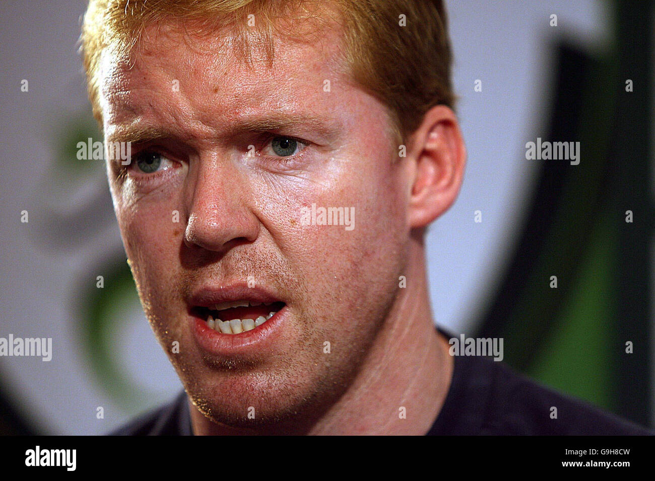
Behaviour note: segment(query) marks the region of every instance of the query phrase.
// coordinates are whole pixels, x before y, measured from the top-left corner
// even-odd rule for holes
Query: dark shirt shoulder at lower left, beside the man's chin
[[[109,436],[190,435],[187,395],[182,391],[173,401],[142,414],[111,431]]]

